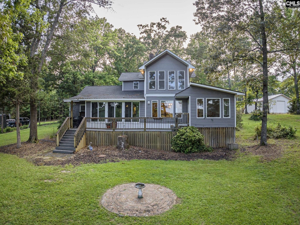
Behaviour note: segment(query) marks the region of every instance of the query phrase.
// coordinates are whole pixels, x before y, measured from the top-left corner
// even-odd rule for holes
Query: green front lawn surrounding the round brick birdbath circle
[[[283,116],[269,119],[296,124],[300,118]],[[250,143],[255,122],[247,117],[237,136]],[[283,156],[270,162],[237,153],[233,161],[133,160],[62,168],[0,153],[0,224],[299,224],[299,140],[297,131]],[[119,217],[99,205],[109,188],[131,182],[166,186],[181,201],[150,217]]]

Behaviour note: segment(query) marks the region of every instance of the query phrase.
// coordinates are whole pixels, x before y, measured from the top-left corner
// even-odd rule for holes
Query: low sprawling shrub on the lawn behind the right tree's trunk
[[[255,128],[255,133],[260,137],[262,127],[257,126]],[[267,127],[267,137],[268,138],[293,138],[295,137],[297,129],[295,127],[289,126],[288,128],[281,126],[280,124],[277,127],[268,126]]]

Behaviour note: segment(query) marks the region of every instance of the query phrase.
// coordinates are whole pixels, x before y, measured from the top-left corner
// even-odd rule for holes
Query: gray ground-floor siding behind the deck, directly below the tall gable
[[[173,101],[173,115],[175,116],[175,110],[176,110],[176,102],[178,100],[182,100],[182,113],[187,113],[187,99],[178,99],[175,97],[146,97],[146,117],[152,117],[152,101],[158,101],[158,117],[161,117],[161,110],[160,110],[160,101]],[[148,105],[148,101],[150,104]]]

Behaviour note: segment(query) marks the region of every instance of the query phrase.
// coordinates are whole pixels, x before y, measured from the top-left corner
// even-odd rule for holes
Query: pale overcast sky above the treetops
[[[150,24],[159,22],[162,17],[166,17],[170,25],[182,26],[182,30],[187,32],[188,41],[190,35],[200,31],[201,26],[193,21],[193,13],[196,7],[193,2],[196,0],[112,0],[113,10],[107,10],[94,6],[98,17],[105,17],[107,22],[115,29],[123,28],[126,32],[140,37],[138,24]]]

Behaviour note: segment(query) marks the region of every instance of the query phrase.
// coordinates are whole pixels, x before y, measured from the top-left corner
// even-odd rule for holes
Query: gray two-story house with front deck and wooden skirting
[[[139,70],[122,73],[120,86],[86,86],[65,99],[70,118],[58,131],[57,148],[63,150],[60,139],[74,130],[72,151],[89,142],[115,145],[123,133],[131,145],[170,150],[176,131],[189,125],[212,147],[235,142],[235,97],[244,93],[190,82],[195,67],[169,50],[150,55]],[[81,117],[73,126],[73,118]]]

